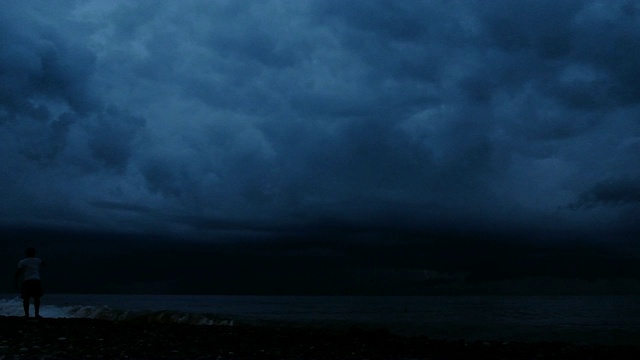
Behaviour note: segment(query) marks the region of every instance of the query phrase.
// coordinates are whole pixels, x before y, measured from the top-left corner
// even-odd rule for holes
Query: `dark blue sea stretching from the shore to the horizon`
[[[22,315],[21,299],[0,294],[0,316]],[[445,340],[640,346],[640,296],[47,294],[41,315],[201,326],[384,329]]]

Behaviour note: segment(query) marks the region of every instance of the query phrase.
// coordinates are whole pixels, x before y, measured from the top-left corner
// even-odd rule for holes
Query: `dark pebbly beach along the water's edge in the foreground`
[[[0,317],[4,359],[640,359],[640,347],[443,341],[385,330]]]

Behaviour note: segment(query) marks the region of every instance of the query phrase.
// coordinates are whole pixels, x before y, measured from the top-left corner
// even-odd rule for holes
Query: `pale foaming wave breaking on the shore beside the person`
[[[32,308],[33,309],[33,308]],[[0,316],[23,316],[22,299],[0,299]],[[177,310],[128,311],[108,306],[46,305],[40,308],[45,318],[87,318],[108,321],[139,321],[190,325],[233,326],[234,321],[215,314],[189,313]]]

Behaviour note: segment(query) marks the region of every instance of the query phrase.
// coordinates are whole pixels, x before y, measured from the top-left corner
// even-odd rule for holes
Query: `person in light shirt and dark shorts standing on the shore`
[[[15,285],[18,287],[18,281],[22,277],[22,306],[24,308],[24,317],[29,317],[29,300],[33,298],[33,308],[36,318],[40,316],[40,298],[43,295],[42,283],[40,282],[40,267],[44,266],[44,262],[36,257],[36,249],[28,247],[25,251],[27,257],[20,260],[18,270],[16,270]]]

